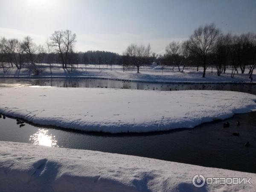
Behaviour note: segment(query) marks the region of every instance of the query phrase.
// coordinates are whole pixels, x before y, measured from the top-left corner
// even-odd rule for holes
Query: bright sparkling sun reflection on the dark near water
[[[38,129],[38,131],[31,135],[29,141],[34,145],[44,145],[48,147],[58,147],[57,140],[55,140],[55,136],[48,133],[48,130]]]

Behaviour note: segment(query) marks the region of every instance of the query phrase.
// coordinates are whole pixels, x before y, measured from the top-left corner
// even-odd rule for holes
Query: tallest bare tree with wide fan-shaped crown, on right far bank
[[[203,77],[205,77],[206,69],[209,66],[208,55],[213,52],[219,34],[220,30],[216,29],[215,24],[212,23],[199,27],[189,38],[191,51],[195,52],[202,60]]]

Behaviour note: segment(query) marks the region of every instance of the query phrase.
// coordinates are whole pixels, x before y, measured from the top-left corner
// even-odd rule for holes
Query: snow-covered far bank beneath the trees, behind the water
[[[76,65],[75,65],[76,67]],[[102,79],[123,79],[129,81],[150,81],[150,82],[250,82],[247,74],[236,74],[234,78],[230,78],[230,69],[227,69],[226,74],[221,74],[221,76],[216,75],[216,70],[207,70],[205,78],[202,78],[203,70],[197,72],[195,67],[187,67],[184,72],[178,72],[177,68],[172,71],[172,67],[164,67],[163,75],[161,67],[156,66],[145,66],[141,67],[140,73],[137,70],[127,70],[125,72],[122,70],[122,66],[113,65],[113,70],[110,66],[106,65],[85,65],[80,64],[79,68],[74,68],[74,71],[70,74],[67,70],[63,70],[60,65],[55,64],[52,68],[52,74],[50,74],[49,65],[43,65],[44,72],[39,76],[34,76],[30,70],[23,68],[21,70],[8,69],[6,73],[3,73],[3,69],[0,69],[0,77],[32,77],[32,78],[42,78],[42,77],[86,77],[86,78],[102,78]],[[99,70],[100,68],[100,70]],[[256,70],[255,70],[256,73]],[[256,75],[253,75],[253,79],[256,79]],[[255,81],[255,80],[254,80]]]

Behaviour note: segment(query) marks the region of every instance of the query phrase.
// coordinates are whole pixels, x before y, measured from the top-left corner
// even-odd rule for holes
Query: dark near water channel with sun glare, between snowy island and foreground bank
[[[236,121],[241,122],[240,126]],[[96,134],[0,119],[0,140],[64,148],[88,149],[136,155],[161,160],[189,163],[256,173],[256,112],[239,114],[223,121],[204,123],[194,129],[151,134]],[[233,132],[239,133],[234,136]],[[249,141],[250,146],[244,144]]]

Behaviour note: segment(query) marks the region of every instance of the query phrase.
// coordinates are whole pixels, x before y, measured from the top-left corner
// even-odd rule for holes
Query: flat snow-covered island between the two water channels
[[[1,113],[40,125],[111,133],[193,128],[256,111],[255,101],[255,95],[231,91],[0,88]]]

